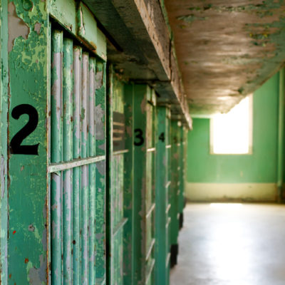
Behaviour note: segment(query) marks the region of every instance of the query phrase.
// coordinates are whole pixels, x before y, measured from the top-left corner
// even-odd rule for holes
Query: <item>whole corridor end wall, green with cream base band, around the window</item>
[[[191,201],[276,201],[279,73],[253,95],[251,155],[212,155],[210,119],[188,134],[186,197]]]

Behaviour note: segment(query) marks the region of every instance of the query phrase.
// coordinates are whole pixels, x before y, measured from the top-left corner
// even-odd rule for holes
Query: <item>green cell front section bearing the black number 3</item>
[[[155,93],[134,92],[134,284],[154,284],[155,265]]]

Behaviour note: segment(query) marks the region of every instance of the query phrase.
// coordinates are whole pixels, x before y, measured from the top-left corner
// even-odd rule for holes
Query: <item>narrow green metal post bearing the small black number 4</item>
[[[169,284],[168,189],[170,187],[170,110],[157,107],[156,185],[155,185],[155,284]]]

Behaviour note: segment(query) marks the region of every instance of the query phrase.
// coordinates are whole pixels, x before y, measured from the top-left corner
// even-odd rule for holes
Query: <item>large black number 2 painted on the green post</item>
[[[32,105],[21,104],[17,105],[11,113],[12,117],[16,120],[24,114],[28,115],[28,123],[11,139],[10,152],[14,155],[38,155],[39,143],[36,145],[21,145],[23,140],[36,129],[38,125],[38,112]]]

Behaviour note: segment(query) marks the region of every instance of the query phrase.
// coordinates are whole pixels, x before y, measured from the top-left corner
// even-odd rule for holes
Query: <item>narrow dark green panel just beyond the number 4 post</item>
[[[179,121],[171,121],[171,185],[170,185],[170,244],[171,266],[177,264],[180,197],[180,127]]]

